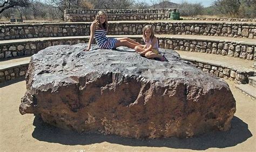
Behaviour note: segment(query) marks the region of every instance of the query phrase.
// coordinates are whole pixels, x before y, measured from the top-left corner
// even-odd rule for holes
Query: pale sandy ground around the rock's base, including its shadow
[[[33,114],[19,114],[25,81],[0,86],[0,151],[255,151],[256,100],[230,85],[237,112],[228,132],[190,139],[136,140],[114,135],[78,134],[44,124]]]

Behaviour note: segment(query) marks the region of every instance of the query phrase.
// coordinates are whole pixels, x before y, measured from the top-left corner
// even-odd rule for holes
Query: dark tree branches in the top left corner
[[[0,0],[0,13],[10,8],[25,7],[28,3],[28,0]]]

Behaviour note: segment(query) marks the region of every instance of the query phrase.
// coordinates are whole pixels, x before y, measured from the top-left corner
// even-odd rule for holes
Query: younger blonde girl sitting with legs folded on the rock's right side
[[[148,59],[157,58],[160,61],[167,61],[164,55],[160,55],[157,37],[154,36],[154,30],[151,25],[146,25],[143,29],[144,47],[136,46],[137,53],[145,55]]]

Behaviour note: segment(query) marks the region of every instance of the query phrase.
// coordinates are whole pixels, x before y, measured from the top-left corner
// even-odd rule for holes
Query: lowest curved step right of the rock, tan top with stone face
[[[198,52],[185,52],[176,50],[181,59],[190,61],[198,69],[215,75],[220,78],[230,79],[238,84],[247,84],[248,77],[254,76],[256,70],[252,67],[253,61],[234,58],[230,60],[228,56],[215,54],[202,54]]]

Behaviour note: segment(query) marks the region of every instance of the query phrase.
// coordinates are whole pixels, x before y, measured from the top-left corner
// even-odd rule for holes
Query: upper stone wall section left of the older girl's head
[[[0,40],[68,37],[90,34],[90,23],[41,23],[0,25]]]

